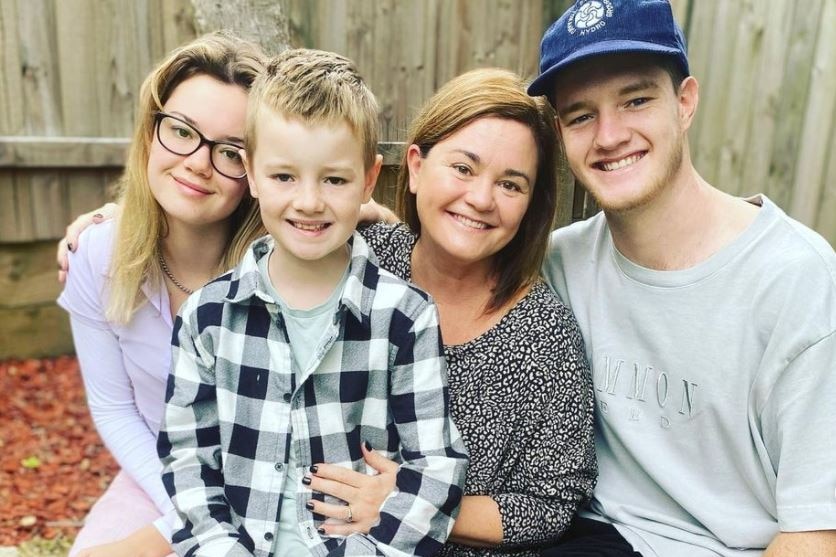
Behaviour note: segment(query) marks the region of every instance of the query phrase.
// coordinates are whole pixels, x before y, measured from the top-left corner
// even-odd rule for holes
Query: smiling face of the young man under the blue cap
[[[564,70],[552,98],[572,172],[605,211],[644,207],[681,175],[693,78],[677,91],[652,57],[602,56]]]

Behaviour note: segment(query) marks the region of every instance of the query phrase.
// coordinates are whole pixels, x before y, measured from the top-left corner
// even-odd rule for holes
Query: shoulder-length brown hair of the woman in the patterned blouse
[[[537,145],[537,179],[514,238],[494,255],[496,285],[487,311],[501,308],[540,276],[549,232],[557,208],[557,149],[554,112],[545,97],[531,97],[515,73],[498,68],[473,70],[447,82],[412,121],[407,145],[426,157],[433,146],[479,118],[504,118],[531,130]],[[406,154],[396,184],[396,212],[421,234],[415,194],[409,191]]]

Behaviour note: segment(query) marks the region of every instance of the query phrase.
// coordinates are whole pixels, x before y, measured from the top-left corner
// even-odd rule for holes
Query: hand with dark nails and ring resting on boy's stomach
[[[366,443],[361,449],[366,464],[377,470],[377,475],[367,476],[331,464],[311,466],[311,490],[342,499],[351,507],[352,521],[347,522],[348,507],[345,505],[311,500],[308,508],[329,519],[322,526],[325,535],[368,534],[380,518],[383,501],[395,489],[398,464],[372,450]]]

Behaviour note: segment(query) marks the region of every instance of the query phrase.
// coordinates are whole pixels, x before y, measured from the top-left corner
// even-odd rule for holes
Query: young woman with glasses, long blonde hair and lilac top
[[[167,555],[174,510],[156,434],[173,316],[263,234],[239,151],[257,46],[224,34],[173,51],[145,80],[121,216],[85,232],[58,302],[87,401],[121,467],[70,555]]]

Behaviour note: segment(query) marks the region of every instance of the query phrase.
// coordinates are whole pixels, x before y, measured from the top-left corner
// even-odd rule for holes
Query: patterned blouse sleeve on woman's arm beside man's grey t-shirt
[[[539,304],[544,311],[546,303]],[[571,523],[580,505],[592,496],[597,477],[593,433],[594,394],[583,339],[574,318],[554,303],[542,315],[547,330],[530,343],[532,378],[542,396],[524,434],[514,441],[519,458],[513,492],[496,499],[504,530],[503,545],[552,542]],[[536,334],[536,333],[535,333]]]

